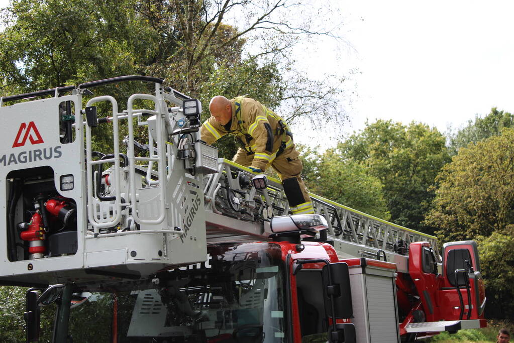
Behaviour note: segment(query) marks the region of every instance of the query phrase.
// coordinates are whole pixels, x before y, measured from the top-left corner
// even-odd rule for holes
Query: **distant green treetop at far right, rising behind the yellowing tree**
[[[504,128],[514,126],[514,116],[509,112],[499,111],[496,107],[484,118],[475,116],[474,122],[469,120],[468,125],[455,134],[449,134],[450,154],[456,155],[457,151],[466,147],[469,143],[476,143],[492,136],[501,134]]]

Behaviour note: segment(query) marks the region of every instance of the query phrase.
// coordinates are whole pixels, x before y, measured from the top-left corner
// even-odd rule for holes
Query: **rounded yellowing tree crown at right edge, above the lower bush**
[[[514,224],[514,129],[459,149],[436,182],[426,222],[439,237],[489,237]]]

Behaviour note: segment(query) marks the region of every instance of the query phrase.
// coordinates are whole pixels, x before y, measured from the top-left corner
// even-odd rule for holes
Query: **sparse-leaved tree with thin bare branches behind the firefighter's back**
[[[308,43],[304,37],[333,35],[315,20],[333,8],[291,0],[174,0],[169,5],[152,0],[136,8],[160,36],[159,52],[146,70],[173,80],[204,104],[219,94],[248,94],[288,124],[323,118],[342,127],[347,120],[338,100],[343,79],[308,79],[295,69],[291,54],[295,45]],[[290,15],[295,11],[302,12],[301,21]],[[224,23],[227,18],[234,26]],[[208,116],[205,106],[203,118]],[[237,147],[226,139],[216,145],[227,158]]]

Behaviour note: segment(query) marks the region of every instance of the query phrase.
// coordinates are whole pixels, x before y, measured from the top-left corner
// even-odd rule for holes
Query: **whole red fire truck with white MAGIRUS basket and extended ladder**
[[[90,91],[127,81],[152,91],[120,108]],[[315,215],[289,215],[279,180],[199,140],[200,112],[141,76],[0,98],[0,282],[30,287],[27,341],[53,302],[55,342],[399,342],[486,326],[475,242],[440,255],[433,236],[314,194]]]

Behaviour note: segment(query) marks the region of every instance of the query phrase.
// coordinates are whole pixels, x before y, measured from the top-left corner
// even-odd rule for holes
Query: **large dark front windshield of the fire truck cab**
[[[124,285],[123,291],[93,294],[71,311],[74,340],[87,341],[91,334],[79,325],[88,320],[84,315],[98,320],[103,313],[104,320],[95,320],[105,326],[95,327],[96,341],[114,336],[119,342],[286,341],[278,245],[224,245],[208,253],[206,262],[160,273],[137,289]],[[99,339],[101,331],[106,339]]]

